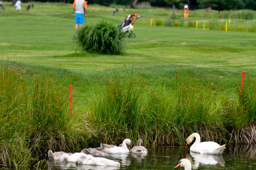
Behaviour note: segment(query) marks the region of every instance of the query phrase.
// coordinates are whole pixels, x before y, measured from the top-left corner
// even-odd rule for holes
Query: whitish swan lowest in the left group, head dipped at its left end
[[[110,159],[106,158],[100,158],[100,157],[90,157],[88,155],[86,156],[80,156],[76,160],[76,164],[88,164],[88,165],[97,165],[97,166],[113,166],[113,167],[119,167],[120,163],[117,161],[112,161]]]

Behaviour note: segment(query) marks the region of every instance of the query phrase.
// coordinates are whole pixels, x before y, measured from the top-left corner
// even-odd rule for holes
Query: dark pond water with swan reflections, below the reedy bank
[[[197,170],[256,170],[256,145],[227,147],[222,155],[199,154],[183,147],[157,147],[147,154],[111,155],[106,158],[119,161],[120,167],[101,167],[49,162],[48,170],[170,170],[182,158],[192,161],[192,169]],[[183,170],[179,167],[177,170]]]

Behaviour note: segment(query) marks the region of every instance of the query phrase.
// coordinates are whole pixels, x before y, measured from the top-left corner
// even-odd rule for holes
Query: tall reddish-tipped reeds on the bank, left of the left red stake
[[[84,140],[68,113],[67,88],[50,77],[0,66],[0,164],[16,167],[41,159],[47,150],[76,150]]]

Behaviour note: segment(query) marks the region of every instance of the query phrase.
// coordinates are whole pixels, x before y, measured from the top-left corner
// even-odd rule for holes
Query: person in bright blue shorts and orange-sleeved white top
[[[73,9],[76,11],[75,14],[75,31],[77,34],[78,26],[84,24],[84,17],[87,17],[87,3],[85,0],[74,0]]]

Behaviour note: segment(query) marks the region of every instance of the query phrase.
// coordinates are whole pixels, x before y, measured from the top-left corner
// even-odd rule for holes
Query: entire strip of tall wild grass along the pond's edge
[[[58,77],[49,70],[35,74],[11,65],[2,65],[0,74],[0,160],[5,166],[44,159],[49,149],[77,152],[101,142],[119,144],[124,138],[134,144],[143,138],[148,148],[182,146],[195,131],[203,140],[221,144],[256,142],[252,133],[256,81],[251,75],[247,75],[242,93],[236,83],[232,96],[230,91],[220,93],[221,87],[214,81],[202,81],[195,74],[177,72],[165,85],[160,81],[150,85],[140,76],[142,72],[110,70],[94,81],[70,79],[69,83],[84,83],[91,91],[89,99],[81,98],[87,106],[81,108],[75,102],[69,115],[67,82],[63,86],[58,81],[72,74]],[[74,96],[77,94],[75,91]]]

